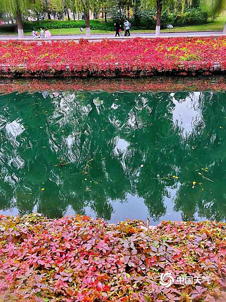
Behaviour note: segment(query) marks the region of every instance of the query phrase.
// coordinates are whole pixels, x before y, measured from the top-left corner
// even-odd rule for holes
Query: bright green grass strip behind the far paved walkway
[[[202,25],[191,25],[191,26],[185,26],[185,27],[174,27],[173,29],[164,29],[161,30],[161,32],[183,32],[183,31],[221,31],[224,28],[224,22],[226,19],[226,14],[224,16],[220,16],[217,18],[215,22],[209,22],[207,24]],[[79,28],[61,28],[61,29],[51,29],[51,34],[81,34]],[[145,33],[153,33],[154,30],[138,30],[133,31],[133,28],[131,28],[132,33],[139,33],[139,32],[145,32]],[[86,30],[84,29],[83,34],[86,33]],[[91,34],[108,34],[113,33],[112,31],[93,31],[91,30]],[[6,32],[0,32],[0,35],[6,35],[6,34],[16,34],[16,33],[6,33]],[[25,35],[31,35],[31,32],[25,32]]]

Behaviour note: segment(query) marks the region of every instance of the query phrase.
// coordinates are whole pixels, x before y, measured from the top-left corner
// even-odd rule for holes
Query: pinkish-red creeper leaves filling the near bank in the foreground
[[[2,215],[0,300],[224,302],[225,239],[225,223]],[[161,273],[199,282],[167,288]]]

